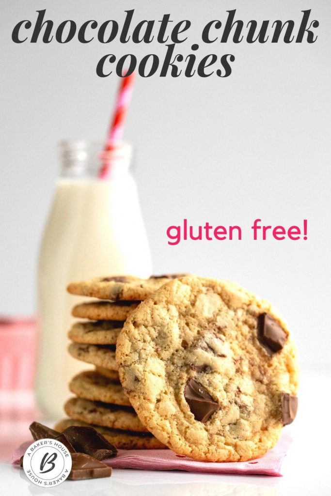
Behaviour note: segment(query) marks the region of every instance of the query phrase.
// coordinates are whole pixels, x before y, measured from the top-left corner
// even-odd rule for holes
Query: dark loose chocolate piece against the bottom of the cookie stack
[[[80,453],[86,453],[97,460],[116,456],[117,449],[92,427],[67,427],[63,434]]]

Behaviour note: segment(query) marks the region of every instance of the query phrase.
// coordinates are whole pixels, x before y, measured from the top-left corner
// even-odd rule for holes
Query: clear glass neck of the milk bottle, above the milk
[[[60,159],[62,178],[113,179],[131,171],[132,146],[116,142],[106,149],[101,142],[63,141]]]

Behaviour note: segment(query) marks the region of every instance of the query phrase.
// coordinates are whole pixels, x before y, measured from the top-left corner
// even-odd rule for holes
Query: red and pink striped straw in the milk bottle
[[[107,142],[104,153],[111,152],[114,149],[114,142],[121,141],[126,124],[126,118],[130,106],[133,83],[135,74],[123,77],[117,94],[114,118],[111,122],[107,135]],[[110,164],[109,160],[104,159],[100,169],[99,178],[107,179],[109,177]]]

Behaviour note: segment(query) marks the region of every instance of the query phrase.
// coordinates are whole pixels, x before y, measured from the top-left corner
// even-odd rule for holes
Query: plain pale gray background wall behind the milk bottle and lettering
[[[111,46],[11,41],[13,26],[47,8],[56,23],[136,21],[163,13],[193,25],[177,48],[188,54],[208,20],[237,8],[243,20],[294,19],[313,9],[316,43],[200,43],[198,55],[233,53],[230,77],[138,78],[126,139],[137,148],[136,180],[154,272],[188,271],[234,279],[270,299],[293,328],[302,361],[330,360],[330,13],[310,1],[1,0],[0,312],[32,314],[38,245],[58,173],[63,138],[103,138],[118,81],[95,74],[107,53],[139,58],[157,43]],[[124,200],[125,201],[125,200]],[[169,246],[166,228],[239,224],[241,242]],[[251,222],[301,225],[307,241],[253,241]],[[134,240],[132,240],[132,247]]]

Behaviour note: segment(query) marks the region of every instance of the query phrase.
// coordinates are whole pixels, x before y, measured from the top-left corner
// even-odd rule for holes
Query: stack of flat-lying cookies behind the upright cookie
[[[76,396],[66,402],[64,409],[69,419],[61,421],[57,430],[93,425],[118,448],[165,447],[141,424],[125,395],[115,351],[118,335],[132,310],[175,277],[178,275],[149,279],[104,277],[68,286],[71,294],[99,299],[72,309],[74,317],[88,320],[78,321],[68,332],[72,341],[68,348],[70,355],[94,365],[95,370],[80,372],[70,381],[69,389]]]

